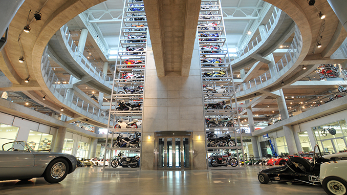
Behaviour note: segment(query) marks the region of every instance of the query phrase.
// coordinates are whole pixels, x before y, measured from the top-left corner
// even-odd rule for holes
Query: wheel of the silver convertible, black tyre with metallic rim
[[[68,172],[68,161],[62,158],[57,158],[52,160],[46,167],[44,178],[49,183],[59,183],[66,178]]]

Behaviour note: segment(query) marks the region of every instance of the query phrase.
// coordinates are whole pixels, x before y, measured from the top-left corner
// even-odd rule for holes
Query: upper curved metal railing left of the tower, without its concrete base
[[[83,54],[78,50],[78,47],[75,45],[75,42],[72,39],[71,34],[69,33],[69,28],[66,24],[60,28],[60,32],[62,39],[64,40],[64,44],[69,50],[71,56],[79,64],[79,66],[82,67],[86,73],[98,80],[101,84],[104,84],[105,86],[112,89],[113,77],[109,77],[104,74],[101,70],[96,68],[92,64],[92,62],[88,60],[88,58],[83,56]]]

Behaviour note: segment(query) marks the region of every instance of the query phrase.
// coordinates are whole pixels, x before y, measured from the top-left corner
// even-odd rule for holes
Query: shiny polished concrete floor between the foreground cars
[[[261,184],[257,172],[246,170],[102,171],[78,167],[66,179],[49,184],[44,178],[0,182],[0,194],[326,194],[321,186],[270,182]]]

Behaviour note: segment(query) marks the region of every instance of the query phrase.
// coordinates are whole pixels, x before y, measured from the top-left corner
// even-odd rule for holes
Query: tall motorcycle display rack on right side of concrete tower
[[[242,133],[220,0],[201,1],[198,22],[208,169],[244,168]],[[226,161],[231,163],[223,165]]]

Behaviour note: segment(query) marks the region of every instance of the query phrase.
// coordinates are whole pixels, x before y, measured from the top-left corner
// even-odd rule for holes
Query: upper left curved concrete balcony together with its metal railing
[[[113,77],[102,73],[78,50],[67,25],[62,26],[49,43],[50,56],[69,74],[98,91],[111,95]]]

